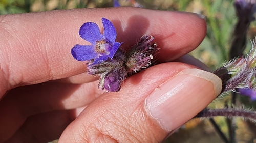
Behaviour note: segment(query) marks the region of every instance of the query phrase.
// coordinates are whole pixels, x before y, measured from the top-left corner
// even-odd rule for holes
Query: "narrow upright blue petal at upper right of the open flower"
[[[111,44],[113,44],[116,40],[116,28],[112,24],[112,22],[106,18],[102,18],[102,24],[104,26],[103,35]]]

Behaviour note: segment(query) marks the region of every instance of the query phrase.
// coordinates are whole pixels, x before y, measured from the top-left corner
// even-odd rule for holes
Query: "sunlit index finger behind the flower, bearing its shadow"
[[[74,60],[75,44],[90,44],[79,37],[84,22],[111,20],[117,41],[132,45],[145,33],[154,35],[162,61],[193,50],[205,36],[204,19],[195,14],[140,8],[75,9],[0,16],[0,94],[17,85],[60,79],[86,71]],[[22,24],[20,24],[22,23]],[[162,58],[163,57],[163,58]],[[84,77],[84,78],[87,78]]]

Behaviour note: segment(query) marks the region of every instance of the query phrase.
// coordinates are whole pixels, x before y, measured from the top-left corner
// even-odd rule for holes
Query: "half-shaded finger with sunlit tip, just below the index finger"
[[[11,90],[0,101],[0,115],[4,115],[0,117],[0,138],[11,137],[31,115],[75,109],[91,103],[103,93],[97,84],[46,82]]]

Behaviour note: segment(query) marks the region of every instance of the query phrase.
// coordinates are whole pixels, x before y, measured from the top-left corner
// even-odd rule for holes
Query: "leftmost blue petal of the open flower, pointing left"
[[[98,54],[94,51],[93,45],[75,45],[71,49],[71,54],[78,61],[94,59]]]

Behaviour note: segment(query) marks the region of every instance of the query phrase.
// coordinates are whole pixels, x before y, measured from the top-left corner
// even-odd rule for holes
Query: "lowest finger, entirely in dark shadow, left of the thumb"
[[[74,120],[70,111],[52,111],[29,117],[7,142],[50,142]]]

